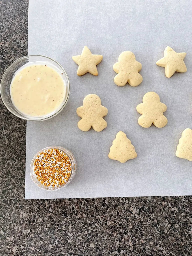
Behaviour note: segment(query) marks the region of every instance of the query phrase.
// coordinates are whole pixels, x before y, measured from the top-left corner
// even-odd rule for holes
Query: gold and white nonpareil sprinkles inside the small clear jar
[[[63,151],[49,148],[42,151],[35,159],[34,172],[41,184],[58,187],[69,179],[71,161]]]

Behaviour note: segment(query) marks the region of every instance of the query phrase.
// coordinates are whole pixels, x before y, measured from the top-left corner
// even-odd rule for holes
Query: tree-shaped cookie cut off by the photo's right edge
[[[192,161],[192,130],[187,128],[182,132],[177,145],[176,156]]]

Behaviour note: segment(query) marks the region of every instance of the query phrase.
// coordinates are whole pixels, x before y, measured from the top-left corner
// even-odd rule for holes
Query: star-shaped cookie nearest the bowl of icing
[[[73,56],[72,59],[79,65],[77,69],[78,76],[82,76],[87,72],[94,76],[98,76],[96,66],[102,61],[103,56],[92,54],[89,48],[84,46],[81,55]]]

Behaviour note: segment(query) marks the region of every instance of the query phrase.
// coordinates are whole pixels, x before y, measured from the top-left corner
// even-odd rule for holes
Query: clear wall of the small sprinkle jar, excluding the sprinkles
[[[60,186],[58,187],[48,187],[48,186],[45,186],[43,184],[41,184],[39,182],[39,180],[36,178],[35,176],[35,172],[34,172],[34,162],[35,162],[35,159],[36,157],[44,150],[47,150],[47,149],[50,149],[50,148],[56,148],[58,150],[61,150],[62,152],[64,152],[70,159],[71,161],[71,174],[68,178],[68,180],[61,184]],[[77,170],[77,162],[76,162],[76,159],[74,158],[73,154],[66,148],[64,147],[60,147],[60,146],[53,146],[53,147],[46,147],[46,148],[43,148],[42,150],[40,150],[39,152],[37,152],[37,154],[35,154],[35,156],[33,157],[32,161],[31,161],[31,164],[30,164],[30,176],[31,176],[31,179],[33,180],[33,182],[39,187],[39,188],[42,188],[44,190],[47,190],[47,191],[56,191],[56,190],[59,190],[63,187],[66,187],[67,185],[69,185],[69,183],[71,182],[71,180],[73,179],[73,177],[75,176],[76,174],[76,170]]]

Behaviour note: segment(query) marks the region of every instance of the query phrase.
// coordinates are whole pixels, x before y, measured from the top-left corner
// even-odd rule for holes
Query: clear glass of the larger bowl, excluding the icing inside
[[[11,81],[14,77],[15,72],[23,67],[24,65],[30,65],[33,63],[37,64],[47,64],[49,67],[54,68],[58,73],[62,74],[62,79],[65,84],[65,90],[66,90],[66,95],[65,98],[62,102],[62,104],[59,106],[58,109],[56,109],[54,112],[46,115],[46,116],[40,116],[40,117],[34,117],[34,116],[27,116],[23,113],[21,113],[19,110],[15,108],[15,106],[12,103],[11,100],[11,95],[10,95],[10,84]],[[13,113],[15,116],[25,119],[25,120],[31,120],[31,121],[42,121],[42,120],[47,120],[50,119],[57,114],[61,112],[63,108],[65,108],[68,98],[69,98],[69,92],[70,92],[70,84],[69,84],[69,78],[67,76],[67,73],[65,69],[55,60],[41,56],[41,55],[29,55],[22,57],[16,61],[14,61],[6,70],[5,73],[3,74],[2,80],[1,80],[1,86],[0,86],[0,92],[1,92],[1,98],[3,100],[3,103],[5,104],[6,108]]]

